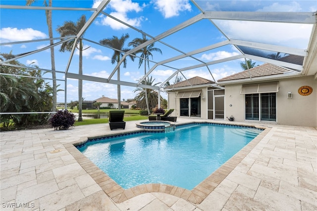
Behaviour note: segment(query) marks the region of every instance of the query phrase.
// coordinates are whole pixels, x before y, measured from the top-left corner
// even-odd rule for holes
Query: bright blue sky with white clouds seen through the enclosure
[[[235,0],[235,1],[196,1],[202,8],[209,11],[289,11],[303,12],[316,11],[316,0]],[[2,5],[25,5],[25,0],[1,0]],[[54,7],[80,7],[96,8],[100,0],[53,0]],[[43,1],[34,2],[34,6],[42,6]],[[171,29],[178,24],[186,21],[201,11],[188,0],[112,0],[106,6],[106,13],[127,22],[147,34],[155,37],[164,31]],[[55,31],[58,26],[63,25],[64,21],[74,21],[85,14],[87,19],[92,11],[71,11],[53,10],[53,36],[58,38],[59,34]],[[221,21],[215,20],[215,24],[222,29],[229,38],[255,41],[260,43],[287,46],[293,48],[306,49],[312,30],[311,25],[302,24],[278,24],[278,23],[257,23],[241,21]],[[291,26],[291,27],[290,27]],[[99,42],[112,36],[120,37],[128,33],[130,38],[126,46],[136,37],[142,35],[117,21],[113,21],[105,15],[100,15],[86,31],[84,38]],[[0,42],[17,42],[49,38],[48,27],[44,10],[25,10],[25,9],[0,9]],[[199,21],[183,30],[180,30],[161,41],[171,45],[182,52],[190,51],[219,43],[226,40],[225,36],[209,20]],[[54,42],[57,42],[56,40]],[[300,42],[299,42],[300,41]],[[41,49],[49,45],[45,42],[29,42],[15,45],[0,46],[1,53],[13,54],[26,53]],[[84,45],[89,47],[83,52],[83,73],[85,75],[107,78],[113,71],[115,65],[111,64],[110,57],[113,50],[84,41]],[[180,55],[181,53],[166,47],[161,43],[155,43],[155,47],[161,49],[162,55],[153,53],[153,60],[158,62],[169,57]],[[70,53],[58,52],[59,46],[55,47],[55,66],[56,70],[65,71]],[[195,57],[208,62],[220,58],[240,54],[233,46],[224,46],[204,53],[199,53]],[[152,59],[152,58],[151,58]],[[50,51],[32,54],[19,61],[23,64],[38,65],[43,69],[51,69]],[[241,71],[239,63],[241,60],[227,61],[209,66],[215,80]],[[182,68],[198,64],[199,62],[184,58],[179,61],[167,63],[174,68]],[[257,61],[257,64],[262,62]],[[154,63],[150,62],[150,68]],[[155,82],[163,82],[175,69],[165,66],[157,67],[151,74]],[[78,73],[78,52],[75,52],[69,72]],[[132,62],[127,60],[127,67],[121,67],[121,80],[135,82],[144,74],[143,66],[138,68],[138,58]],[[212,80],[206,67],[184,71],[186,78],[201,76]],[[44,75],[50,78],[51,74]],[[63,79],[63,74],[57,74],[57,78]],[[116,74],[113,76],[116,80]],[[170,83],[173,82],[173,79]],[[64,89],[64,82],[58,81],[61,89]],[[121,86],[121,99],[134,98],[134,87]],[[164,98],[166,94],[161,93]],[[116,85],[83,81],[83,97],[85,100],[95,100],[102,95],[116,99]],[[67,102],[78,100],[77,80],[67,80]],[[64,92],[59,92],[57,102],[64,102]]]

